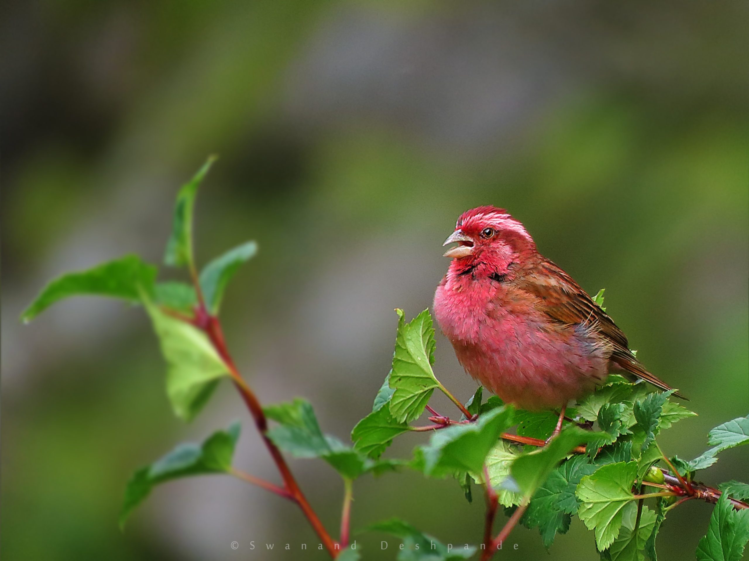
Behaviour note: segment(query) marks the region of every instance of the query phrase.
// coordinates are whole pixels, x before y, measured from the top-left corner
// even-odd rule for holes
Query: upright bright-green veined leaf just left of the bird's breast
[[[440,382],[434,377],[434,328],[429,310],[424,310],[409,323],[403,310],[398,313],[398,336],[392,357],[390,387],[395,390],[390,399],[390,414],[400,423],[419,418]]]

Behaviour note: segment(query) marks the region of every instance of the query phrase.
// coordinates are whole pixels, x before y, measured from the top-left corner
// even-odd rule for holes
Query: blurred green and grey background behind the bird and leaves
[[[221,159],[198,197],[198,256],[260,244],[224,319],[264,402],[307,396],[347,438],[388,371],[393,308],[431,305],[455,218],[491,203],[589,292],[605,287],[638,357],[691,397],[700,417],[664,433],[667,453],[694,457],[712,426],[747,414],[746,3],[2,11],[3,560],[324,559],[300,555],[317,542],[294,506],[221,477],[164,485],[120,533],[130,473],[178,441],[240,419],[237,465],[276,481],[273,465],[228,385],[192,425],[172,417],[141,310],[79,299],[17,322],[60,272],[128,251],[160,261],[175,192],[209,153]],[[461,399],[475,388],[441,335],[437,374]],[[703,479],[746,479],[747,465],[747,448],[728,450]],[[337,476],[293,468],[337,533]],[[482,500],[455,482],[383,476],[355,497],[354,528],[398,515],[445,542],[481,535]],[[694,558],[709,513],[676,509],[661,557]],[[395,557],[380,539],[357,536],[365,559]],[[510,541],[503,558],[598,559],[576,519],[548,555],[536,530]]]

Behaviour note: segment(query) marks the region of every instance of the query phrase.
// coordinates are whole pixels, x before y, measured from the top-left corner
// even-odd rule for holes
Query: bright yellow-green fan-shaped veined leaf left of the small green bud
[[[625,505],[633,499],[630,489],[637,477],[637,462],[604,465],[577,485],[582,503],[577,516],[588,530],[595,530],[598,551],[607,549],[619,536]]]

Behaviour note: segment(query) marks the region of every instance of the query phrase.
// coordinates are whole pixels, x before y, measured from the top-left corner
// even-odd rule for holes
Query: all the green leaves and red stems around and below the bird
[[[594,530],[595,545],[603,559],[645,561],[647,557],[657,561],[655,541],[667,511],[687,498],[708,500],[707,496],[714,497],[712,503],[717,506],[709,531],[697,548],[698,559],[738,561],[742,557],[749,540],[749,506],[739,503],[737,512],[733,512],[734,505],[727,494],[743,494],[748,485],[732,480],[724,485],[725,496],[715,499],[719,491],[704,488],[694,482],[694,476],[698,470],[718,462],[718,453],[749,444],[749,416],[712,429],[708,435],[712,448],[696,459],[685,462],[674,456],[669,462],[655,438],[677,421],[696,415],[669,401],[672,394],[679,396],[676,390],[649,392],[644,383],[611,375],[605,384],[579,399],[576,408],[566,411],[571,417],[566,426],[560,417],[559,434],[552,433],[555,423],[550,411],[516,411],[497,396],[484,404],[481,387],[462,405],[434,375],[437,343],[429,310],[410,322],[406,322],[403,310],[395,310],[398,330],[392,368],[377,391],[372,413],[351,432],[353,445],[324,434],[306,399],[294,398],[261,411],[261,405],[254,405],[258,402],[255,393],[235,370],[216,315],[226,284],[237,268],[254,256],[255,242],[245,242],[212,260],[199,275],[192,249],[195,197],[213,160],[210,157],[178,192],[164,256],[166,265],[186,269],[192,290],[175,281],[157,283],[157,267],[127,255],[85,271],[61,275],[49,282],[21,314],[22,321],[28,322],[52,304],[77,295],[141,304],[151,317],[167,363],[166,393],[175,414],[182,420],[193,420],[213,396],[219,381],[233,378],[283,479],[279,487],[234,465],[240,433],[240,425],[234,423],[226,431],[214,432],[202,444],[181,444],[151,465],[136,470],[125,490],[120,527],[156,485],[195,475],[228,474],[291,499],[316,528],[331,557],[355,561],[361,554],[354,545],[349,547],[354,481],[367,473],[381,475],[408,467],[427,477],[456,479],[469,503],[473,502],[470,479],[485,488],[487,533],[482,537],[482,560],[494,557],[518,521],[528,528],[538,527],[548,549],[557,534],[568,532],[571,516],[577,515],[589,530]],[[185,297],[185,292],[191,292],[190,298]],[[598,306],[604,303],[603,294],[601,289],[595,295]],[[185,305],[187,301],[196,303],[190,308]],[[430,408],[428,402],[436,389],[462,411],[460,421],[451,421]],[[429,420],[436,424],[410,425],[426,409],[434,414]],[[268,420],[276,426],[269,428]],[[590,430],[592,422],[597,423],[596,432]],[[516,424],[518,435],[508,435],[506,431]],[[414,448],[411,460],[383,459],[383,450],[394,438],[409,431],[430,432],[428,445]],[[530,434],[533,437],[529,438]],[[514,447],[509,447],[507,441],[514,442]],[[323,459],[341,476],[345,499],[338,541],[321,529],[324,526],[317,513],[296,491],[296,479],[285,462],[278,459],[281,453],[300,459]],[[584,454],[583,460],[576,453]],[[666,468],[659,468],[659,462],[664,462]],[[695,491],[697,485],[699,492]],[[656,491],[646,492],[649,486],[655,486]],[[707,494],[700,494],[703,491]],[[643,506],[646,499],[655,499],[655,512]],[[495,538],[493,521],[498,503],[512,507],[514,512]],[[391,508],[398,508],[397,501]],[[462,550],[452,552],[451,543],[444,545],[398,518],[370,525],[369,530],[403,539],[399,561],[455,561],[473,557],[479,550],[465,543]],[[336,545],[345,551],[338,555]]]

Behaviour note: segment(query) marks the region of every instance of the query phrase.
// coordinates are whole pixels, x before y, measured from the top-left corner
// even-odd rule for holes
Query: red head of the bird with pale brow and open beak
[[[443,245],[457,243],[445,252],[451,269],[460,274],[503,275],[510,263],[536,253],[536,244],[521,222],[505,209],[479,206],[464,212]]]

